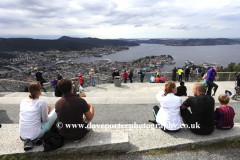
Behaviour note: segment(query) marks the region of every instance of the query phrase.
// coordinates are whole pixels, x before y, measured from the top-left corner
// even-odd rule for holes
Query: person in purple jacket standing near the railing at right
[[[213,90],[214,92],[213,92],[212,96],[215,96],[215,93],[218,89],[218,85],[213,82],[214,79],[218,80],[218,77],[216,77],[217,71],[218,71],[217,67],[212,67],[207,72],[206,83],[208,86],[207,95],[209,95],[209,96],[211,96],[213,87],[214,87],[214,90]]]

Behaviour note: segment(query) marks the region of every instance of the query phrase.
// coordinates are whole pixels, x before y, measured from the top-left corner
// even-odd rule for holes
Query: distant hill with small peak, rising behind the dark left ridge
[[[136,42],[128,42],[124,40],[111,40],[111,39],[98,39],[98,38],[72,38],[63,36],[58,40],[62,41],[75,41],[75,42],[82,42],[87,44],[93,45],[101,45],[101,46],[139,46]]]

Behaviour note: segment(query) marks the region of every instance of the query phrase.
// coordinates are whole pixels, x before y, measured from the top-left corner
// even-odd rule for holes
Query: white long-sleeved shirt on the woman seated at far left
[[[49,120],[47,104],[41,99],[24,99],[20,104],[19,131],[22,139],[34,140],[42,132],[42,122]]]

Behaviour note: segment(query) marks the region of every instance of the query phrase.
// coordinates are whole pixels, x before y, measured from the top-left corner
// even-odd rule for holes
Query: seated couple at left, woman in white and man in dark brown
[[[84,124],[87,126],[86,122],[91,121],[94,116],[93,106],[73,94],[71,80],[62,79],[58,81],[57,86],[64,95],[56,102],[55,109],[52,111],[44,100],[39,99],[41,84],[32,82],[28,86],[30,95],[28,99],[21,102],[19,114],[20,137],[25,141],[25,150],[32,149],[33,141],[42,139],[44,133],[50,130],[56,119],[63,124],[59,134],[65,140],[78,141],[89,132],[87,128],[68,129],[65,124]]]

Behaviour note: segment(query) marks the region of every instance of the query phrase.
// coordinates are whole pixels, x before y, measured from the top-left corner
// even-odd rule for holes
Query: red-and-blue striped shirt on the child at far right
[[[235,112],[230,106],[222,106],[216,108],[214,120],[217,128],[222,130],[229,130],[233,127],[233,118]]]

